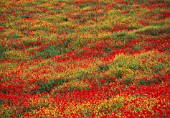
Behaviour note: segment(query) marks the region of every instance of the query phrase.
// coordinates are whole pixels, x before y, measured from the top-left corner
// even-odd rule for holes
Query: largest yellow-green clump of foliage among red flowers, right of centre
[[[114,58],[114,61],[109,65],[109,69],[105,70],[106,75],[109,77],[115,77],[121,79],[124,84],[138,83],[140,85],[150,85],[150,83],[157,83],[159,80],[150,79],[150,74],[167,73],[165,60],[167,57],[163,57],[161,62],[158,62],[162,54],[154,51],[141,53],[139,55],[124,55],[120,54]],[[153,61],[154,59],[154,61]],[[145,78],[146,77],[146,78]],[[138,81],[139,78],[145,78]]]

